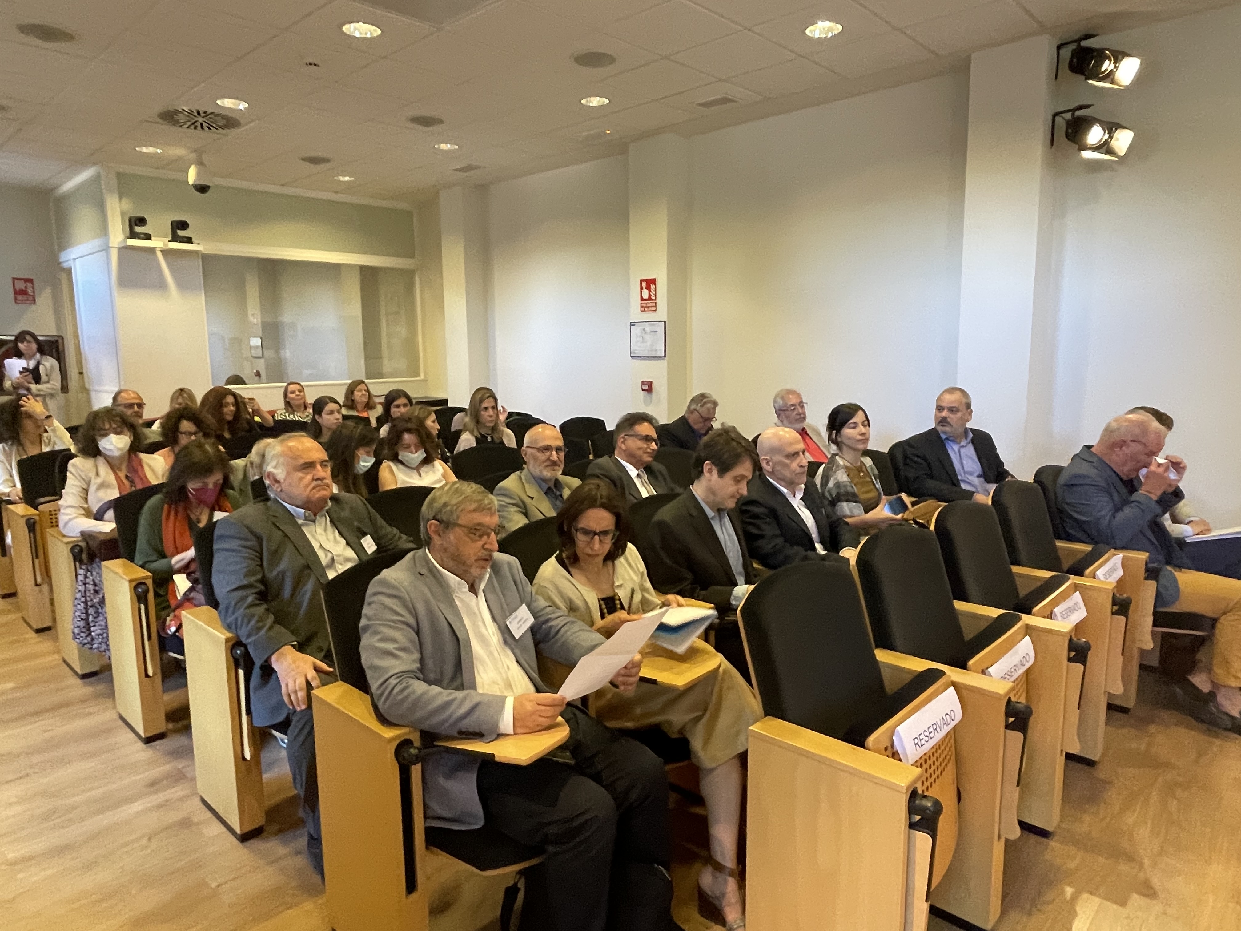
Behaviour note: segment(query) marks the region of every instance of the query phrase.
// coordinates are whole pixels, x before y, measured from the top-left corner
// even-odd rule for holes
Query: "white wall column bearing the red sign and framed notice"
[[[679,417],[692,384],[689,340],[690,143],[665,134],[629,146],[630,320],[665,320],[668,358],[630,362],[633,410]],[[656,312],[640,313],[638,282],[655,278]],[[654,382],[643,394],[642,381]]]

